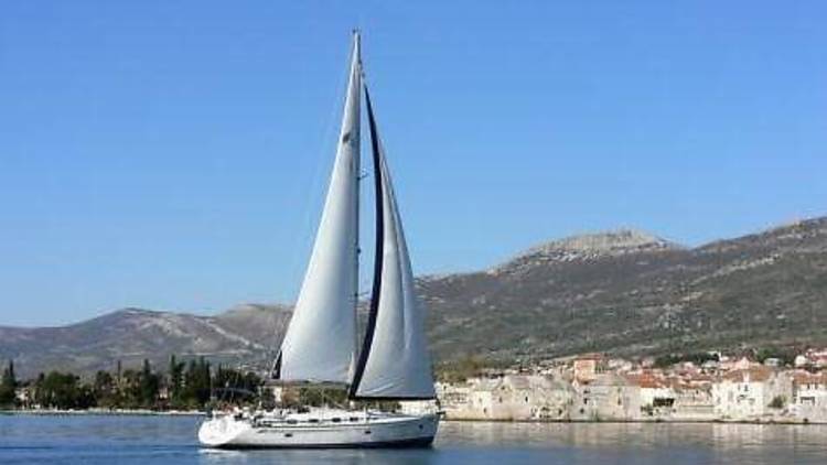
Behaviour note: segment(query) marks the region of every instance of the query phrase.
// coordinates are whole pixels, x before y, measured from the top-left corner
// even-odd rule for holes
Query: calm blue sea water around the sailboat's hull
[[[420,450],[216,451],[197,417],[0,415],[0,464],[827,464],[827,426],[442,422]]]

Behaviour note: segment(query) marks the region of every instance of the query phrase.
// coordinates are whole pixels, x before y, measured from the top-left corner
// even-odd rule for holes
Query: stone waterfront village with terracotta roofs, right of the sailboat
[[[827,349],[761,363],[705,355],[662,366],[587,354],[484,369],[437,392],[453,420],[827,422]]]

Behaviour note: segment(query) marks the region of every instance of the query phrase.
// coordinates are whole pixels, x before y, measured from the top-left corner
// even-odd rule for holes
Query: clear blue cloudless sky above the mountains
[[[825,23],[823,1],[3,2],[0,326],[292,302],[354,26],[419,274],[827,215]]]

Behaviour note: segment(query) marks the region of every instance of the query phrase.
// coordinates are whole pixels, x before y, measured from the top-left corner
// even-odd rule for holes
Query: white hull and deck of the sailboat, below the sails
[[[201,425],[198,441],[219,448],[422,447],[433,442],[439,426],[437,414],[352,414],[342,410],[322,418],[212,418]]]

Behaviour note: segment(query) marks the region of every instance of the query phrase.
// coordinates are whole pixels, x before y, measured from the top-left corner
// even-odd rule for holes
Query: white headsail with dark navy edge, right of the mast
[[[376,184],[376,262],[367,334],[350,394],[353,399],[433,399],[425,307],[415,292],[405,233],[367,87],[365,98]]]

